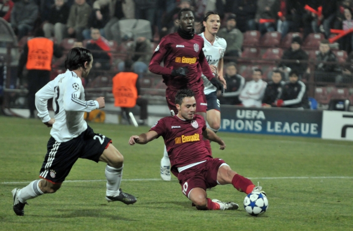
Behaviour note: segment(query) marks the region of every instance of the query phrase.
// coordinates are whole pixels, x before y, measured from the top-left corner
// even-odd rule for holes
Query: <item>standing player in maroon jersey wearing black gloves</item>
[[[162,75],[163,82],[167,86],[166,100],[172,114],[178,112],[174,102],[175,94],[178,90],[188,88],[195,92],[196,113],[206,119],[207,102],[201,74],[203,73],[218,90],[223,89],[223,84],[214,77],[207,63],[202,50],[204,40],[195,34],[192,11],[188,8],[182,9],[178,17],[178,32],[162,38],[152,55],[149,70]],[[160,66],[161,62],[164,63],[163,67]],[[167,156],[168,153],[164,149],[161,177],[165,181],[170,181],[170,162]]]

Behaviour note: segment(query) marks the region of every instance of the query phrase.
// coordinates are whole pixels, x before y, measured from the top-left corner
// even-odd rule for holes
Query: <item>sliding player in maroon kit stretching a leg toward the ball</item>
[[[171,171],[178,174],[182,192],[199,210],[238,209],[234,202],[221,202],[207,198],[206,189],[216,185],[232,184],[234,188],[247,194],[261,191],[247,178],[230,169],[224,160],[212,158],[202,138],[217,142],[220,149],[225,143],[206,127],[205,120],[196,111],[196,100],[192,90],[178,91],[175,96],[178,114],[160,119],[149,132],[131,136],[130,145],[146,144],[159,136],[164,138]]]

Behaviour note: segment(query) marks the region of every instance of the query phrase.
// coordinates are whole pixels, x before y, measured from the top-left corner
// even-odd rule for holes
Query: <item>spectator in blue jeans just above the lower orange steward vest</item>
[[[134,72],[139,74],[140,77],[143,77],[143,73],[148,70],[148,65],[152,57],[151,42],[146,37],[137,37],[129,50],[133,53],[132,61],[134,62]],[[124,66],[124,62],[119,63],[119,71],[125,71]]]

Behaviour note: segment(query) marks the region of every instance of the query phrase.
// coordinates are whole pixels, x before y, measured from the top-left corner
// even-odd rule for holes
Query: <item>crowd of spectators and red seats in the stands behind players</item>
[[[217,36],[226,40],[225,57],[232,59],[225,59],[228,88],[221,103],[278,106],[251,98],[251,89],[257,86],[266,94],[267,81],[272,78],[273,85],[267,88],[283,87],[281,80],[291,83],[290,74],[297,75],[298,86],[305,86],[309,75],[318,86],[352,83],[352,33],[337,40],[335,36],[353,28],[353,0],[0,0],[0,17],[11,24],[19,41],[42,30],[65,49],[82,42],[96,50],[94,68],[102,73],[124,71],[124,57],[116,51],[132,52],[132,69],[144,78],[160,39],[177,31],[183,8],[193,10],[196,31],[205,12],[221,16]],[[254,65],[249,59],[271,62]],[[312,60],[315,65],[310,67]],[[261,71],[261,65],[268,68]],[[278,73],[279,82],[273,79]],[[281,93],[276,101],[285,102]]]

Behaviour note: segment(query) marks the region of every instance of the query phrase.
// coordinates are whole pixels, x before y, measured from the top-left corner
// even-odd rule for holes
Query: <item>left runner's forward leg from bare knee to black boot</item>
[[[134,204],[137,201],[136,197],[124,193],[120,188],[124,167],[123,155],[112,144],[109,144],[100,156],[99,161],[107,163],[105,167],[105,177],[107,180],[105,199],[108,202],[121,201],[127,205]]]

